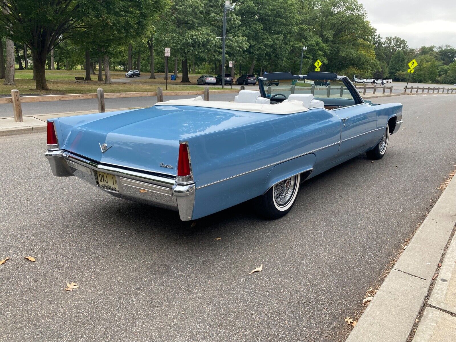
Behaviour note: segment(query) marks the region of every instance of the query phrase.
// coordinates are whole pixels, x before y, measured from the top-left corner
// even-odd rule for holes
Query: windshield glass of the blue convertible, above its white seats
[[[281,79],[264,80],[264,92],[268,98],[280,102],[290,94],[312,94],[325,104],[334,103],[333,99],[344,99],[344,104],[355,104],[352,94],[342,80]],[[347,102],[352,100],[353,103]]]

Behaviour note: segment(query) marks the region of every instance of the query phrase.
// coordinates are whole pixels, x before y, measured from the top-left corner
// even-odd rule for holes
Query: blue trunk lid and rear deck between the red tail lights
[[[93,161],[176,176],[180,141],[189,141],[191,153],[192,136],[258,121],[254,114],[154,106],[59,118],[57,134],[60,148]]]

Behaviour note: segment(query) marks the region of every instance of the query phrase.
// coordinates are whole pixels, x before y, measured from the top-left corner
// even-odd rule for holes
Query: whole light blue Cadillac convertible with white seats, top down
[[[45,156],[54,176],[183,221],[249,200],[274,219],[306,179],[361,153],[382,158],[402,123],[401,104],[364,101],[335,73],[267,73],[258,83],[234,102],[197,97],[49,119]]]

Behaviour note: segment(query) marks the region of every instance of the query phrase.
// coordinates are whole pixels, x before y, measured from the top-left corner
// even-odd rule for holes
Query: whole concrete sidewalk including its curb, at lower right
[[[453,176],[347,342],[456,341],[455,223]]]

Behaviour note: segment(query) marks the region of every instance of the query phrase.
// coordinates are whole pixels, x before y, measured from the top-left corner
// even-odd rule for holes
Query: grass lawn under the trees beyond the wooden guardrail
[[[145,73],[144,76],[149,76],[150,73]],[[49,91],[35,90],[35,81],[32,81],[32,70],[16,70],[15,86],[5,86],[0,81],[0,94],[10,95],[12,89],[18,89],[21,94],[81,94],[81,93],[96,93],[97,88],[103,88],[105,93],[122,93],[122,92],[145,92],[156,91],[157,87],[165,90],[165,80],[162,74],[156,74],[156,79],[135,79],[133,82],[125,81],[125,83],[104,84],[104,82],[88,81],[88,83],[75,83],[74,76],[85,76],[84,70],[59,70],[46,71],[47,86]],[[181,76],[181,75],[179,75]],[[123,71],[111,72],[112,78],[125,78]],[[191,91],[203,90],[202,86],[196,85],[198,76],[191,75],[190,83],[182,84],[180,78],[177,81],[168,81],[168,91]],[[92,75],[92,79],[98,79],[98,75]],[[131,79],[129,79],[130,81]],[[220,87],[210,87],[210,89],[220,89]]]

